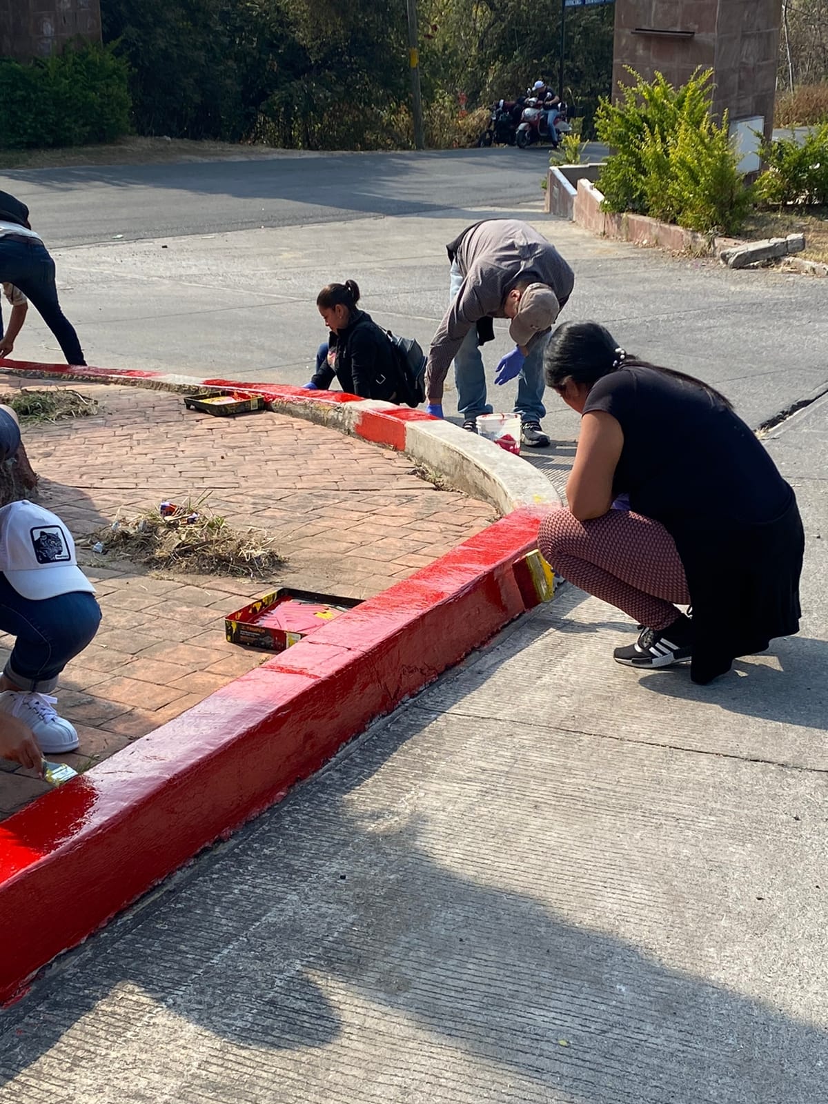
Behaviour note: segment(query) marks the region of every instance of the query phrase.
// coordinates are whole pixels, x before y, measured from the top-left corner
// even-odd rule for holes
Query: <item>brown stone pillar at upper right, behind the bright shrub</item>
[[[773,129],[782,0],[616,0],[613,89],[625,65],[683,84],[713,70],[713,108],[731,123],[762,116]]]

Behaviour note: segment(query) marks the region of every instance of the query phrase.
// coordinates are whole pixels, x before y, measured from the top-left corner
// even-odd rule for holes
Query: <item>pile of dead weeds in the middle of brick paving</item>
[[[205,498],[188,500],[166,517],[158,507],[132,517],[117,517],[112,526],[98,529],[83,543],[93,552],[157,570],[272,578],[286,562],[273,538],[261,529],[233,529],[206,507]]]

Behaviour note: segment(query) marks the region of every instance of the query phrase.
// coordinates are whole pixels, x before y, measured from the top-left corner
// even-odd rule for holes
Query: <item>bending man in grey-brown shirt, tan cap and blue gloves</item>
[[[449,307],[434,335],[426,365],[426,412],[443,417],[443,389],[454,361],[457,408],[464,429],[477,432],[491,414],[480,346],[493,341],[493,318],[509,318],[514,349],[502,358],[496,383],[518,376],[514,411],[521,440],[543,447],[543,348],[575,277],[558,250],[518,219],[487,219],[468,226],[447,246],[452,262]]]

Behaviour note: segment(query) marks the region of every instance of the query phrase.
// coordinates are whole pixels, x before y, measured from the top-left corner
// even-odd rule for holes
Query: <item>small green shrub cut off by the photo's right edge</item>
[[[828,204],[828,123],[800,144],[795,138],[766,141],[762,160],[767,168],[756,181],[756,195],[765,203],[797,206]]]

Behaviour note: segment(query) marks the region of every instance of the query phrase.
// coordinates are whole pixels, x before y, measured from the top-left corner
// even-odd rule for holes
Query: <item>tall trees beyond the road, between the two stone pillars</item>
[[[556,84],[560,0],[418,0],[426,132],[468,141],[473,109],[538,77]],[[135,128],[309,149],[411,141],[404,0],[102,0],[132,71]],[[609,91],[612,6],[567,13],[567,98]]]

